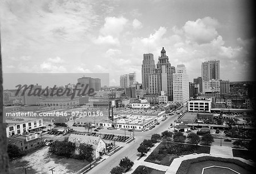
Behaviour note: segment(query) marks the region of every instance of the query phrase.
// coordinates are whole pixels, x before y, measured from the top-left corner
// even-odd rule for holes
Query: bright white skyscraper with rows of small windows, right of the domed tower
[[[173,74],[174,102],[186,103],[189,100],[189,82],[185,65],[177,65]]]

